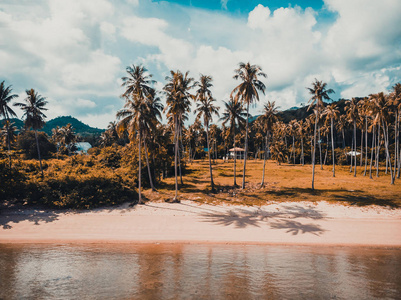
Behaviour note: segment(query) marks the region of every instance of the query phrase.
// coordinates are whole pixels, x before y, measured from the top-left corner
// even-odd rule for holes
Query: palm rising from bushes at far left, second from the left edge
[[[25,92],[27,95],[27,97],[24,99],[25,103],[19,102],[15,103],[14,105],[19,106],[21,110],[24,111],[23,117],[25,117],[25,127],[32,128],[35,131],[36,148],[38,151],[40,172],[42,173],[43,177],[42,158],[40,157],[37,130],[45,125],[44,119],[46,118],[46,115],[42,111],[47,110],[47,108],[45,108],[47,101],[46,98],[39,95],[37,92],[35,92],[34,89],[26,90]]]

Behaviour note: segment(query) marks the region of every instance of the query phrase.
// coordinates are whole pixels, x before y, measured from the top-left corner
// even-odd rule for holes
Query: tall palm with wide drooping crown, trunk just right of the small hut
[[[257,65],[251,65],[241,62],[239,68],[236,69],[234,79],[240,79],[242,82],[236,86],[231,92],[231,97],[234,96],[235,100],[240,100],[246,103],[246,129],[245,129],[245,156],[244,156],[244,171],[242,175],[242,189],[245,188],[245,172],[246,172],[246,159],[248,156],[248,123],[249,123],[249,105],[255,100],[259,101],[259,91],[265,93],[266,86],[258,77],[267,77],[262,72],[262,68]]]

